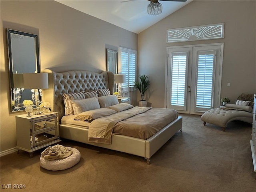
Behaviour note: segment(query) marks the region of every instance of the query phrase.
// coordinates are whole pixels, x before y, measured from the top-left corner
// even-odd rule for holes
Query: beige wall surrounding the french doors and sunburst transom
[[[149,102],[164,107],[166,47],[224,42],[221,98],[256,92],[256,1],[194,0],[138,35],[139,74],[151,81]],[[166,43],[166,30],[225,23],[224,39]],[[149,54],[150,53],[150,54]],[[227,83],[230,82],[230,87]]]

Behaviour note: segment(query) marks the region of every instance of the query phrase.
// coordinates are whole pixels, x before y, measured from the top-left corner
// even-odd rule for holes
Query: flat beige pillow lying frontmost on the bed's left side
[[[94,119],[109,116],[109,115],[112,115],[115,113],[117,113],[115,110],[108,109],[108,108],[94,109],[94,110],[85,111],[85,112],[82,112],[82,113],[76,115],[74,120],[81,120],[81,121],[89,122]]]

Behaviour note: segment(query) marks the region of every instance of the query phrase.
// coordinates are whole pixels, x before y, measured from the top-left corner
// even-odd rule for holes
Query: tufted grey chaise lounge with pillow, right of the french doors
[[[253,94],[240,94],[235,104],[226,104],[220,108],[206,111],[201,116],[204,125],[207,123],[222,127],[225,131],[228,123],[240,120],[252,123]]]

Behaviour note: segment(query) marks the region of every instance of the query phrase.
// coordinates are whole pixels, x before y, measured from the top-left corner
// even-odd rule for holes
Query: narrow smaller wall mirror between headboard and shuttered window
[[[106,70],[111,71],[114,74],[118,73],[118,51],[112,49],[106,49]]]

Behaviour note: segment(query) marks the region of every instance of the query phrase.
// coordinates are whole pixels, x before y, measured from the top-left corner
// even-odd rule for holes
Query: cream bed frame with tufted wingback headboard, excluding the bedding
[[[176,118],[174,118],[174,120],[171,120],[171,122],[168,122],[167,125],[163,126],[163,128],[157,130],[154,135],[150,136],[149,138],[146,137],[146,139],[136,138],[134,136],[127,136],[120,133],[114,133],[113,130],[113,133],[110,133],[110,142],[97,142],[93,139],[90,141],[91,136],[89,132],[89,126],[90,124],[94,124],[94,121],[98,121],[98,119],[86,122],[83,120],[74,120],[74,116],[66,115],[66,100],[63,97],[63,94],[91,92],[94,90],[108,90],[110,92],[109,97],[113,98],[114,74],[112,72],[106,71],[97,73],[86,70],[72,70],[66,72],[54,72],[53,70],[46,70],[46,72],[49,73],[49,89],[45,90],[44,98],[45,101],[50,102],[52,104],[52,110],[54,112],[58,112],[58,119],[60,122],[60,138],[74,140],[77,142],[82,142],[120,152],[125,152],[136,156],[141,156],[146,159],[148,164],[150,164],[151,156],[159,148],[161,148],[174,134],[176,134],[178,130],[182,130],[182,117],[177,116]],[[139,110],[138,108],[140,107],[134,108],[136,110]],[[74,110],[77,109],[74,108]],[[148,111],[151,111],[152,113],[153,110],[167,109],[150,108],[150,110]],[[113,116],[115,115],[116,114],[113,114]],[[74,123],[74,121],[76,122]]]

